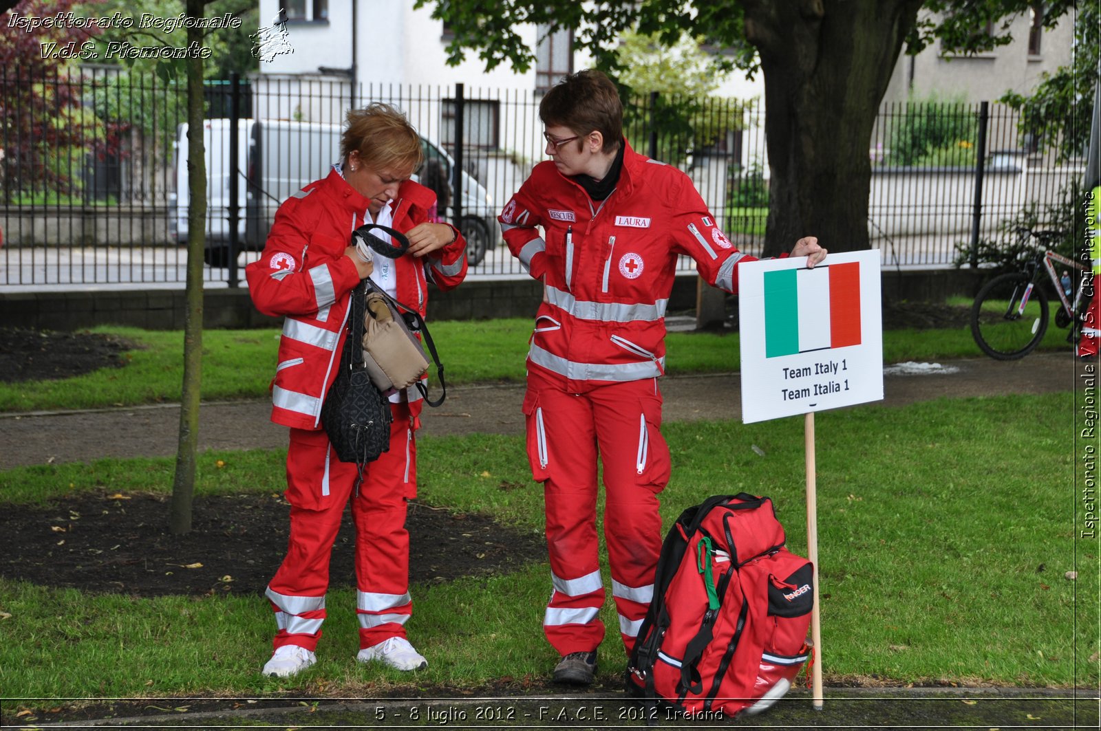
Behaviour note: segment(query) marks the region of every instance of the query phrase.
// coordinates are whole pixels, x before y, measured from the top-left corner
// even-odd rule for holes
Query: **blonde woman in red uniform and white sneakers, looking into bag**
[[[402,670],[427,666],[404,626],[413,607],[405,506],[416,495],[421,395],[411,388],[390,397],[390,450],[368,465],[355,495],[357,467],[330,448],[320,412],[340,361],[351,290],[370,276],[424,315],[428,282],[450,290],[466,276],[466,242],[453,226],[428,220],[436,195],[410,179],[423,153],[401,112],[381,103],[350,111],[340,154],[327,177],[280,207],[263,253],[246,270],[257,308],[285,317],[272,421],[291,427],[285,493],[291,537],[266,590],[277,632],[265,675],[293,675],[316,662],[329,554],[349,499],[356,524],[357,659]],[[349,246],[352,231],[364,223],[405,233],[408,253],[375,257],[372,265]]]

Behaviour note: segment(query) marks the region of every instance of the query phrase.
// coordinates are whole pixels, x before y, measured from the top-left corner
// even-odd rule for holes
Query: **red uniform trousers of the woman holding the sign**
[[[543,619],[562,655],[604,637],[597,538],[597,457],[603,467],[604,539],[626,651],[654,593],[662,549],[657,493],[669,479],[656,379],[586,383],[581,393],[530,364],[524,397],[532,476],[543,482],[554,591]]]

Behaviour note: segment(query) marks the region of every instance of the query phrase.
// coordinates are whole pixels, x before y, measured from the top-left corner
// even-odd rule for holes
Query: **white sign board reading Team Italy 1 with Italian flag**
[[[742,422],[883,399],[880,252],[738,265]]]

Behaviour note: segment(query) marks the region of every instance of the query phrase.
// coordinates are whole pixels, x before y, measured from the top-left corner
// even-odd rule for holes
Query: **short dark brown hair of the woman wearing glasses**
[[[613,152],[623,140],[619,90],[595,68],[563,77],[539,102],[539,119],[547,127],[568,127],[579,137],[600,132],[603,152]]]

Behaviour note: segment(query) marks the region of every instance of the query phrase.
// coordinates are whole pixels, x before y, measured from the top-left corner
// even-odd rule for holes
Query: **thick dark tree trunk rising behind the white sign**
[[[765,254],[817,236],[869,248],[869,143],[920,0],[742,0],[761,54],[770,206]],[[829,195],[822,195],[829,192]]]

